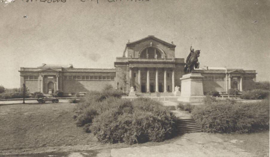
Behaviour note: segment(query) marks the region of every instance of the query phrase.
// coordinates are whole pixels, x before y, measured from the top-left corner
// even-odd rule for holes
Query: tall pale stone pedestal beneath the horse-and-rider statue
[[[202,102],[205,98],[203,95],[202,80],[203,77],[199,73],[185,74],[180,78],[181,80],[181,96],[178,101],[184,102]]]

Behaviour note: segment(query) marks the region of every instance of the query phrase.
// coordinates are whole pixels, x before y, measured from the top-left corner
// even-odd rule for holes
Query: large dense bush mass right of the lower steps
[[[206,102],[208,103],[192,112],[202,131],[246,133],[269,129],[268,99],[260,103],[240,103],[231,100]]]

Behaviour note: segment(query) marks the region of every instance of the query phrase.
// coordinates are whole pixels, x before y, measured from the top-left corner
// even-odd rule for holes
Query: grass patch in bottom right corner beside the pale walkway
[[[269,131],[250,134],[215,134],[218,138],[230,141],[237,147],[260,157],[269,156]]]

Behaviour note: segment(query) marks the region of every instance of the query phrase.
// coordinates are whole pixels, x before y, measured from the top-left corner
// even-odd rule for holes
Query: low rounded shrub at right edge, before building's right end
[[[251,91],[243,91],[241,99],[264,99],[269,96],[269,90],[254,89]]]

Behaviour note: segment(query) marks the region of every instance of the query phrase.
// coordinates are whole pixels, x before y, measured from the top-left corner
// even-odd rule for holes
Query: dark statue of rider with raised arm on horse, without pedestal
[[[194,66],[196,69],[199,68],[200,63],[198,62],[198,57],[200,57],[200,51],[201,50],[194,51],[192,46],[190,46],[190,53],[187,56],[186,65],[185,65],[185,69],[184,69],[185,72],[194,71]]]

